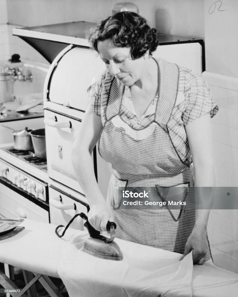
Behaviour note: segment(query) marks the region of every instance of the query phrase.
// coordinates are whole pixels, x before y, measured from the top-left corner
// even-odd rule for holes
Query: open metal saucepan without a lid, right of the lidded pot
[[[30,135],[35,155],[38,158],[46,159],[45,129],[32,130]]]

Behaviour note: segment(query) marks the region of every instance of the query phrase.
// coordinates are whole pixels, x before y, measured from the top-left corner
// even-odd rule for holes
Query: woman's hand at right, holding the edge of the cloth
[[[205,226],[194,226],[180,260],[191,251],[193,253],[193,264],[203,265],[207,254],[207,228]]]

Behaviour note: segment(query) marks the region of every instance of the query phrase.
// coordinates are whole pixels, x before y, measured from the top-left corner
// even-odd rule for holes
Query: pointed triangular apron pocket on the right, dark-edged
[[[189,192],[189,183],[179,184],[171,187],[161,187],[155,185],[157,193],[163,202],[166,202],[166,208],[171,217],[177,222],[186,206],[186,198]]]

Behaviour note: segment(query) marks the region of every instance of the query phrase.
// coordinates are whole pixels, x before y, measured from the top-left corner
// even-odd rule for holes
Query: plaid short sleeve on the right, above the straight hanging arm
[[[218,106],[212,99],[209,87],[204,80],[195,72],[185,74],[185,110],[183,112],[183,123],[187,125],[210,112],[211,118],[218,112]]]

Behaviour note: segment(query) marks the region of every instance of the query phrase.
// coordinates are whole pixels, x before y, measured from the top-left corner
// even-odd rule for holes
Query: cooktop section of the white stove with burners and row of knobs
[[[50,222],[47,162],[32,151],[0,146],[0,212]]]

